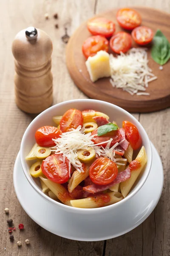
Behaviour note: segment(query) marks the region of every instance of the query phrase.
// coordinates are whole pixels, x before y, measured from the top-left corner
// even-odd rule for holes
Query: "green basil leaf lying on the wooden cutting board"
[[[164,65],[170,59],[170,43],[160,30],[157,30],[153,38],[151,56],[160,65]]]

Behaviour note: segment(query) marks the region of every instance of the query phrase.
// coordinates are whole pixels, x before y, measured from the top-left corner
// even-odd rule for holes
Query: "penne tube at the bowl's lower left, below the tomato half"
[[[70,197],[65,187],[63,187],[61,184],[54,183],[53,181],[48,180],[47,178],[45,179],[42,176],[40,176],[40,179],[45,183],[46,186],[48,186],[48,188],[54,193],[54,195],[57,196],[57,198],[63,204],[71,206],[70,200],[72,200],[72,198]]]

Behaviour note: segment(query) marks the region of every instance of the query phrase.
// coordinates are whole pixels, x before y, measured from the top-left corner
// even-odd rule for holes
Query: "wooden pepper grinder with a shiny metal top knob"
[[[40,113],[53,101],[51,38],[42,30],[29,27],[14,38],[15,100],[27,113]]]

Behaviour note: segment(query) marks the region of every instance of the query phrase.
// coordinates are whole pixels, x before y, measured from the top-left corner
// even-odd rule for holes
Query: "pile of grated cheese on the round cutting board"
[[[132,48],[125,55],[110,55],[111,79],[113,87],[122,88],[131,95],[150,95],[145,90],[148,83],[157,79],[148,67],[147,48]]]

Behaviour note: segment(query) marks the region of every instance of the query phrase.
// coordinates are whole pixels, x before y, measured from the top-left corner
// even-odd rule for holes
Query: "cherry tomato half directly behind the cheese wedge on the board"
[[[85,58],[89,56],[96,55],[99,51],[108,52],[109,42],[108,40],[101,35],[93,35],[85,40],[82,45],[82,52],[85,55]]]

